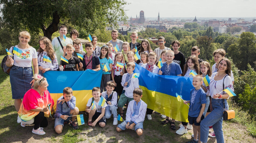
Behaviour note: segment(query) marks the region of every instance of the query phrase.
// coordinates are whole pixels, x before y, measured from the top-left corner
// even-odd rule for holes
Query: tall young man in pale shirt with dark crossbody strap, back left
[[[53,45],[53,51],[55,52],[55,54],[57,56],[57,60],[58,60],[59,65],[60,65],[60,56],[63,56],[63,50],[66,48],[66,45],[67,44],[72,44],[73,45],[72,40],[68,37],[66,37],[66,40],[64,41],[63,35],[66,36],[67,30],[68,29],[65,25],[61,25],[60,28],[59,28],[60,36],[54,38],[51,41],[51,44]],[[60,42],[59,42],[58,39],[60,39]],[[60,43],[62,44],[63,49],[62,49]]]

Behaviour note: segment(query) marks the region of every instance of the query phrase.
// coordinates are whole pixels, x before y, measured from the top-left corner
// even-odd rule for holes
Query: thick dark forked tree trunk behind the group
[[[41,29],[43,30],[44,36],[46,36],[48,39],[51,40],[51,36],[54,32],[58,31],[58,24],[60,23],[60,16],[58,15],[58,12],[55,11],[53,13],[53,21],[49,25],[49,27],[45,27],[44,24],[41,25]]]

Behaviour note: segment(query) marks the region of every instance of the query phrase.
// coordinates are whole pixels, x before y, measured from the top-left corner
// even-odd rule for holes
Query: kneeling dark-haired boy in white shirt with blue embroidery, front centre
[[[136,131],[138,136],[143,133],[143,121],[145,119],[147,104],[141,100],[142,89],[135,88],[133,91],[133,99],[129,102],[126,112],[126,120],[117,125],[116,131],[120,132],[125,129],[132,129]]]

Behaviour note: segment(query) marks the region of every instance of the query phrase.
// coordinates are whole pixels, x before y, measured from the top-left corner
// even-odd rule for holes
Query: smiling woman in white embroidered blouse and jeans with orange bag
[[[229,95],[223,90],[229,87],[232,91],[234,91],[230,73],[231,62],[229,59],[223,58],[218,64],[218,72],[212,74],[210,81],[210,96],[212,97],[213,110],[200,123],[201,142],[207,142],[209,126],[213,126],[216,141],[224,142],[222,121],[224,110],[229,110],[229,105],[227,104]]]

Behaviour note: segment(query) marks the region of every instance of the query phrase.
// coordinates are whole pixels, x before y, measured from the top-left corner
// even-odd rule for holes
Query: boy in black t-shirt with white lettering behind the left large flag
[[[72,53],[74,52],[74,47],[72,44],[67,44],[66,49],[64,49],[64,52],[67,53],[67,55],[64,57],[68,60],[68,63],[61,60],[60,70],[62,71],[79,71],[78,64],[80,66],[83,66],[83,63],[79,61],[77,57],[72,56]]]

